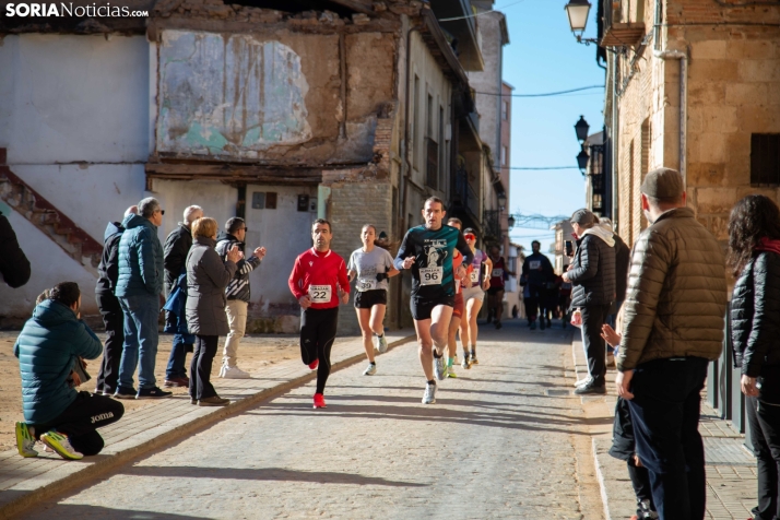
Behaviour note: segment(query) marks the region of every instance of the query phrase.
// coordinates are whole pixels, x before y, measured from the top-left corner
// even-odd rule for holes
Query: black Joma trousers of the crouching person
[[[101,452],[105,442],[96,428],[108,426],[119,421],[125,414],[125,406],[111,398],[79,392],[70,406],[48,423],[34,424],[35,438],[49,430],[68,436],[74,450],[85,456]]]

